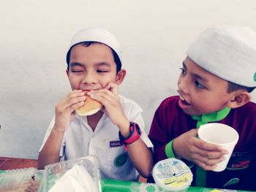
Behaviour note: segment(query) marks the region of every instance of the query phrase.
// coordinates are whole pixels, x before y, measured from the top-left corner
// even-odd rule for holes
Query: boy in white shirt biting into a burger
[[[126,71],[121,69],[116,37],[102,28],[78,31],[67,64],[72,92],[56,104],[55,118],[39,150],[38,168],[60,161],[61,156],[96,155],[103,178],[135,180],[135,169],[148,177],[153,166],[148,148],[152,144],[144,131],[141,108],[118,95]],[[89,91],[88,95],[83,91]],[[86,117],[75,115],[86,97],[99,101],[104,109]]]

